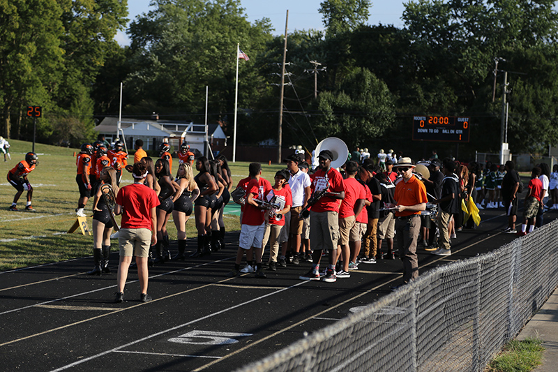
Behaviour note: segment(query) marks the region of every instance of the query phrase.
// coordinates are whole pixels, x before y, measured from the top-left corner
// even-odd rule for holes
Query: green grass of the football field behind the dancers
[[[77,232],[66,234],[75,222],[75,208],[80,198],[75,183],[74,157],[74,153],[79,150],[36,144],[39,164],[28,178],[33,186],[33,207],[37,212],[13,212],[8,211],[8,207],[16,191],[6,181],[6,174],[24,160],[25,154],[31,151],[32,144],[10,140],[10,145],[12,160],[3,162],[0,157],[0,173],[3,177],[3,182],[0,183],[0,271],[91,255],[92,236]],[[263,177],[272,181],[275,172],[283,167],[284,165],[278,164],[262,165]],[[231,163],[230,168],[234,186],[240,179],[248,176],[248,163]],[[121,186],[132,182],[130,173],[124,172]],[[17,202],[20,210],[25,207],[26,195],[27,192],[24,191]],[[91,211],[92,202],[93,200],[88,202],[86,211]],[[194,237],[197,233],[193,216],[190,220],[186,224],[186,233],[188,237]],[[91,217],[87,218],[87,222],[91,228]],[[225,215],[225,228],[228,231],[239,230],[238,216]],[[176,239],[172,216],[167,223],[167,230],[171,240]],[[116,246],[117,242],[113,240],[112,244]]]

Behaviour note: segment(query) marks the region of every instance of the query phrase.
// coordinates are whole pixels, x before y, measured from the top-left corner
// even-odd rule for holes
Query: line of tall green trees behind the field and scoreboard
[[[209,122],[232,135],[239,43],[250,60],[239,68],[237,144],[277,140],[284,36],[273,36],[270,20],[249,22],[239,0],[152,3],[121,47],[126,0],[0,0],[0,133],[29,139],[26,107],[41,105],[38,140],[79,146],[118,114],[123,82],[124,117],[195,122],[204,121],[207,86]],[[287,35],[283,144],[313,149],[335,136],[351,149],[453,154],[455,144],[411,141],[413,116],[430,114],[471,118],[460,156],[498,152],[506,71],[511,151],[545,151],[558,142],[553,6],[412,0],[398,28],[366,24],[370,0],[322,1],[324,31]]]

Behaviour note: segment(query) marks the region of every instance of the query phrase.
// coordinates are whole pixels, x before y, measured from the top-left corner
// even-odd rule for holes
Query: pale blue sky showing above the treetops
[[[289,10],[288,32],[296,30],[323,29],[322,15],[318,13],[323,0],[241,0],[248,21],[254,22],[268,17],[275,28],[274,35],[285,33],[285,18]],[[405,0],[407,1],[407,0]],[[128,0],[128,19],[147,13],[151,0]],[[393,24],[402,27],[401,15],[405,7],[403,0],[372,0],[368,24]],[[119,31],[116,41],[120,45],[130,45],[126,33]]]

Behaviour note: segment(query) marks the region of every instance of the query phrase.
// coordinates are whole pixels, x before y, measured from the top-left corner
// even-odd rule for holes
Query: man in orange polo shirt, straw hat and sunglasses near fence
[[[402,179],[395,185],[395,237],[403,262],[403,283],[418,278],[418,258],[416,241],[421,231],[421,211],[426,209],[426,188],[413,175],[414,164],[411,158],[401,158],[397,168]],[[400,285],[392,287],[396,290]]]

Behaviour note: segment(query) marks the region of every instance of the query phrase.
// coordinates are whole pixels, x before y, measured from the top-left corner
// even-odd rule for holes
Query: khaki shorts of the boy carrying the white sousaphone
[[[339,214],[336,211],[310,211],[310,248],[335,250],[339,240]]]

